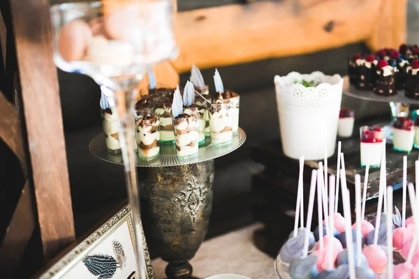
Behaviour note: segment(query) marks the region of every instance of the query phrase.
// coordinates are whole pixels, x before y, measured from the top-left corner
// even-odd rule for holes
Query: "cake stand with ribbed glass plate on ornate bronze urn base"
[[[152,160],[137,158],[142,225],[149,249],[168,262],[168,278],[191,278],[189,264],[203,243],[212,209],[214,159],[239,148],[246,140],[239,128],[230,144],[200,146],[198,156],[179,158],[175,145],[161,144]],[[108,152],[103,134],[89,144],[91,153],[109,163],[123,165],[122,155]]]

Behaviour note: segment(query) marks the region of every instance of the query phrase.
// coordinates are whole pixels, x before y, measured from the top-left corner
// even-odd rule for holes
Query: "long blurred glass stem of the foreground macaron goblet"
[[[127,90],[124,93],[115,92],[116,106],[121,124],[119,144],[121,145],[122,158],[126,179],[126,192],[128,202],[131,204],[131,216],[135,233],[135,255],[140,279],[147,279],[145,257],[143,250],[143,232],[140,218],[140,189],[138,188],[137,172],[135,169],[136,154],[134,152],[134,124],[132,109],[135,103],[135,90]]]

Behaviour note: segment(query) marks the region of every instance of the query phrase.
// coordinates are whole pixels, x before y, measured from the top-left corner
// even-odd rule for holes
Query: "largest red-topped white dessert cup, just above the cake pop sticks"
[[[380,167],[383,154],[383,132],[380,127],[362,126],[360,128],[361,167]]]

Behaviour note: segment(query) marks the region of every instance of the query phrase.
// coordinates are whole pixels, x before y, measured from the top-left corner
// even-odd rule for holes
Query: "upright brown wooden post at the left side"
[[[48,1],[10,1],[43,252],[75,238]]]

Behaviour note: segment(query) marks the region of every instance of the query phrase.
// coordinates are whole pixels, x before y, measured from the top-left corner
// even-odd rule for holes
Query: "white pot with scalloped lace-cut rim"
[[[304,86],[302,81],[318,84]],[[279,128],[286,156],[321,160],[335,153],[344,80],[340,75],[314,72],[275,76]]]

